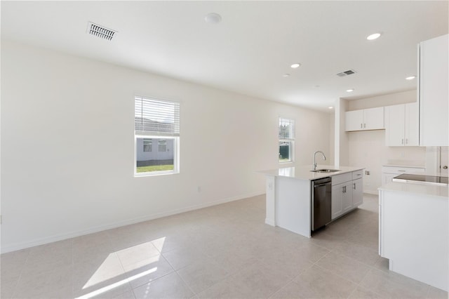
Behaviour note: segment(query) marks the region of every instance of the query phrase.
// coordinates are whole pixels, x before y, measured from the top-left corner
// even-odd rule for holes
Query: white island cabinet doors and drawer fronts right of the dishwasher
[[[363,204],[363,171],[332,177],[332,219]]]

